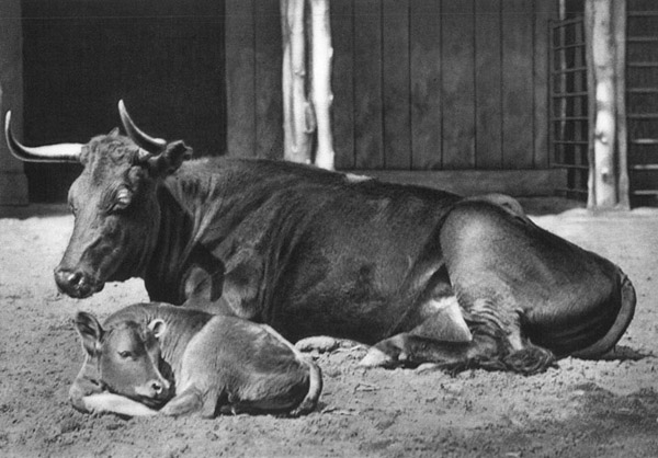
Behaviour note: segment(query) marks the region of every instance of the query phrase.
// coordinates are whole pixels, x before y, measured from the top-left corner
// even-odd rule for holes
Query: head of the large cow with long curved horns
[[[55,268],[60,290],[83,298],[109,280],[141,276],[157,242],[160,210],[157,185],[173,173],[191,149],[166,142],[138,129],[123,102],[120,113],[129,137],[117,129],[87,145],[60,144],[30,148],[16,141],[7,114],[4,133],[10,150],[24,161],[81,162],[84,167],[69,190],[76,217],[73,233]]]

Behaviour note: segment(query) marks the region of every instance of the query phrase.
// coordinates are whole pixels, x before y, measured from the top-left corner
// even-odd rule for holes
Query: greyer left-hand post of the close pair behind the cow
[[[304,5],[306,0],[281,0],[283,33],[283,130],[284,159],[310,163],[311,137],[306,100],[306,43]]]

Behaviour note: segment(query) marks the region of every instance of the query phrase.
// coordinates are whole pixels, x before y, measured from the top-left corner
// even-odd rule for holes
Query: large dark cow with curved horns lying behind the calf
[[[534,225],[511,197],[462,197],[261,159],[190,159],[128,136],[26,147],[78,161],[75,228],[55,268],[76,298],[144,278],[151,300],[266,323],[295,343],[371,345],[365,366],[534,374],[614,347],[633,319],[622,270]]]

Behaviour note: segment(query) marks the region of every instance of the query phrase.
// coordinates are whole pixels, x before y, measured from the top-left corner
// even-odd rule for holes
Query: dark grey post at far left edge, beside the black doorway
[[[21,0],[0,1],[0,115],[12,111],[12,128],[19,136],[23,123],[23,51]],[[23,164],[0,138],[0,205],[27,204],[27,179]]]

